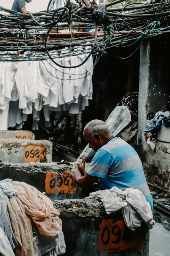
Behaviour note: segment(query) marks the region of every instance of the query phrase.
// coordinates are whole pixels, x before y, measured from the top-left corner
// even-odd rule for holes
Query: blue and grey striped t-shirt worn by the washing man
[[[101,190],[113,186],[121,190],[139,189],[153,211],[153,200],[140,158],[135,149],[120,137],[112,139],[96,152],[87,173],[99,177]]]

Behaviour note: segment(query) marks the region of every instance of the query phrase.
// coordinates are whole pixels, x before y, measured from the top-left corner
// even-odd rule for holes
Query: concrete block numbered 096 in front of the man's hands
[[[54,163],[0,163],[0,180],[26,182],[40,192],[46,192],[52,201],[63,198],[81,198],[82,189],[70,178],[72,166]]]

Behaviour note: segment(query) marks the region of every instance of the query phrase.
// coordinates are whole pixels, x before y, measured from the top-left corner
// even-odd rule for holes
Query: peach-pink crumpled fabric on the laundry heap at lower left
[[[34,221],[40,234],[55,236],[62,230],[62,221],[59,212],[54,209],[53,203],[35,187],[25,182],[13,181],[12,186],[19,192],[17,196],[24,205],[27,213]]]

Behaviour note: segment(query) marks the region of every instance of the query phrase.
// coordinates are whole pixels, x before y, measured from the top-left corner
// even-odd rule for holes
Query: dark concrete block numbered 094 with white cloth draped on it
[[[96,199],[53,202],[60,212],[65,256],[149,256],[149,229],[144,223],[130,231],[122,211],[107,215]]]

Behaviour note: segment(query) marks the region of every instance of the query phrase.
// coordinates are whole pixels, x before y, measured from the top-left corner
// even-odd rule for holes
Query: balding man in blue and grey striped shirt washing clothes
[[[92,120],[86,125],[84,138],[96,154],[87,173],[83,157],[82,163],[77,163],[72,169],[70,177],[78,186],[85,188],[99,179],[101,190],[113,186],[122,190],[136,188],[144,194],[153,211],[152,196],[135,149],[120,137],[114,137],[107,124],[101,120]]]

